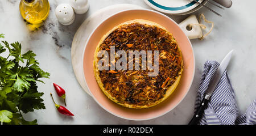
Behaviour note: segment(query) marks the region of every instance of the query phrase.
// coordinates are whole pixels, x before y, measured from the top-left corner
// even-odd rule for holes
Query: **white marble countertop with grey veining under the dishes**
[[[149,8],[143,0],[89,0],[90,8],[86,14],[76,15],[72,25],[64,26],[57,22],[54,10],[65,1],[50,0],[51,11],[49,17],[36,31],[30,31],[28,24],[19,14],[18,0],[0,1],[0,33],[5,33],[5,40],[19,41],[22,51],[33,50],[43,70],[51,73],[50,79],[44,79],[46,84],[38,83],[38,90],[44,92],[46,109],[27,113],[27,120],[38,120],[38,124],[187,124],[192,117],[199,87],[203,65],[207,59],[218,62],[229,50],[234,49],[234,56],[228,67],[237,96],[240,113],[246,111],[247,106],[256,99],[256,1],[233,0],[233,6],[225,10],[208,5],[218,10],[220,18],[212,12],[201,8],[194,14],[204,13],[208,20],[214,22],[212,33],[204,40],[191,40],[196,58],[196,72],[191,90],[181,103],[171,112],[162,117],[147,121],[129,121],[106,112],[90,97],[76,80],[71,62],[71,44],[73,36],[81,23],[95,11],[109,5],[130,3]],[[188,15],[172,16],[177,23]],[[208,26],[210,27],[210,26]],[[52,83],[57,83],[66,90],[67,108],[75,114],[74,117],[60,115],[52,103],[49,92],[54,92]],[[55,99],[60,104],[61,99]]]

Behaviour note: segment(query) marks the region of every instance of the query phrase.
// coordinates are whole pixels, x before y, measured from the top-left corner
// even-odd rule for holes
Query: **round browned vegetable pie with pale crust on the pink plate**
[[[109,70],[99,70],[101,57],[97,53],[106,50],[110,54],[110,46],[114,46],[115,52],[125,50],[127,54],[129,50],[158,50],[158,75],[148,76],[150,70],[142,67],[129,70],[128,65],[127,70],[110,70],[110,64]],[[137,19],[119,24],[101,38],[94,53],[93,69],[98,85],[110,100],[127,108],[148,108],[167,99],[176,89],[183,59],[176,40],[166,28]]]

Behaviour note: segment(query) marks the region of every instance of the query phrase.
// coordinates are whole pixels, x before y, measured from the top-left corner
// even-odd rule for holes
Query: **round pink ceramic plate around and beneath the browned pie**
[[[176,90],[162,103],[146,109],[125,108],[109,100],[98,87],[93,73],[93,55],[101,37],[116,25],[134,19],[150,20],[165,27],[174,35],[183,54],[184,71]],[[195,57],[188,37],[174,20],[152,10],[125,10],[110,16],[94,29],[86,42],[83,56],[84,77],[93,99],[106,111],[127,120],[149,120],[170,112],[187,94],[195,74]]]

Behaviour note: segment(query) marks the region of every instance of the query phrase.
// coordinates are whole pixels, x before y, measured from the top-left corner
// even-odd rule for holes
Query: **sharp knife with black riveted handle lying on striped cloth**
[[[204,113],[204,109],[205,109],[205,107],[207,107],[210,96],[212,96],[212,93],[213,93],[215,87],[217,86],[218,82],[221,79],[222,74],[224,73],[224,71],[226,70],[226,67],[229,64],[229,61],[232,57],[232,53],[233,53],[233,50],[231,50],[224,57],[224,59],[220,63],[220,66],[218,66],[216,73],[213,75],[213,78],[210,80],[210,84],[207,88],[207,91],[205,91],[205,93],[204,93],[204,99],[201,101],[199,108],[197,109],[195,115],[192,117],[191,121],[189,122],[189,125],[196,125],[199,123],[199,120]]]

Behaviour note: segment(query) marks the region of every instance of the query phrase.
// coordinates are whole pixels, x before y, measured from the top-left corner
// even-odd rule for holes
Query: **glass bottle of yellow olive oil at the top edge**
[[[48,0],[20,0],[19,10],[22,17],[31,24],[39,24],[49,14]]]

